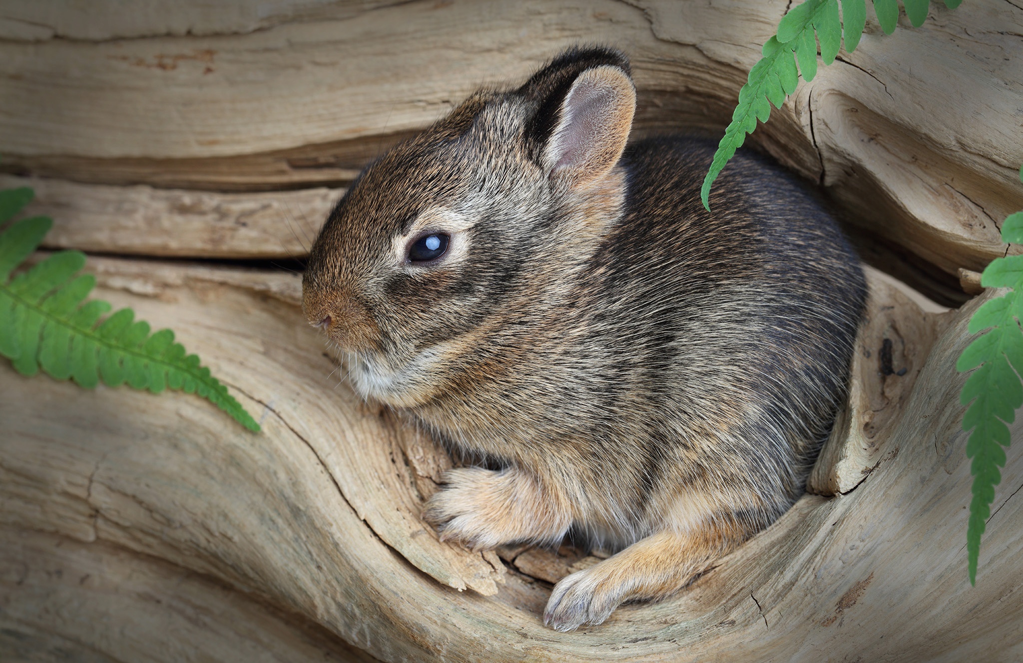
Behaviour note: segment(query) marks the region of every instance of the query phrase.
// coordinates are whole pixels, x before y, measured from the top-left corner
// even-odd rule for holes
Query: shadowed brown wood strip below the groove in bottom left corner
[[[5,661],[376,659],[215,579],[103,542],[0,527]],[[12,605],[16,602],[16,606]],[[115,626],[95,646],[96,624]],[[159,628],[154,625],[159,624]]]

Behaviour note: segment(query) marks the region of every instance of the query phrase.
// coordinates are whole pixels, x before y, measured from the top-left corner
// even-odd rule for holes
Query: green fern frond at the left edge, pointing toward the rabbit
[[[32,200],[32,189],[0,191],[0,223]],[[185,353],[174,333],[149,334],[149,325],[121,309],[99,322],[110,305],[84,302],[96,279],[76,276],[85,254],[61,251],[8,280],[10,273],[42,242],[52,221],[31,217],[0,233],[0,354],[24,375],[40,368],[56,380],[73,380],[92,389],[100,380],[109,387],[127,383],[159,394],[164,389],[196,393],[251,431],[260,426],[199,358]],[[99,324],[97,325],[97,322]]]

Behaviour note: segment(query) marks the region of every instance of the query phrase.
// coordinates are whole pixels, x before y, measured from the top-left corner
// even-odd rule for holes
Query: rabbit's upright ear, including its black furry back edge
[[[580,186],[618,162],[635,112],[635,88],[622,53],[568,50],[519,92],[537,103],[526,140],[551,182]]]

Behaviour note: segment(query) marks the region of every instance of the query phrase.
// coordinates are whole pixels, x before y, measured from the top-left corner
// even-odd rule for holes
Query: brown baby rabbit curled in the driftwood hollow
[[[444,538],[624,548],[554,586],[559,630],[677,591],[789,509],[865,297],[790,175],[740,152],[707,212],[714,145],[626,145],[634,109],[607,48],[476,92],[359,175],[303,281],[359,394],[486,460],[428,502]]]

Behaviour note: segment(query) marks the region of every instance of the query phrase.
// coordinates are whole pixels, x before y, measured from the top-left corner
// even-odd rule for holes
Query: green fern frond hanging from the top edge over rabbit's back
[[[739,91],[739,103],[731,114],[731,122],[724,130],[711,162],[700,197],[710,211],[710,187],[724,169],[725,164],[746,141],[746,134],[757,128],[757,120],[767,122],[770,106],[781,108],[786,98],[796,89],[799,76],[812,81],[817,74],[817,41],[820,42],[820,59],[831,64],[838,55],[841,42],[851,53],[859,44],[866,25],[866,0],[842,0],[842,18],[839,19],[839,0],[806,0],[795,6],[777,25],[777,35],[763,46],[763,57]],[[943,0],[945,6],[954,8],[962,0]],[[927,18],[930,0],[902,0],[906,15],[914,27]],[[874,0],[878,23],[886,34],[895,31],[898,21],[897,0]],[[815,37],[814,37],[815,35]],[[795,60],[799,62],[796,72]]]

